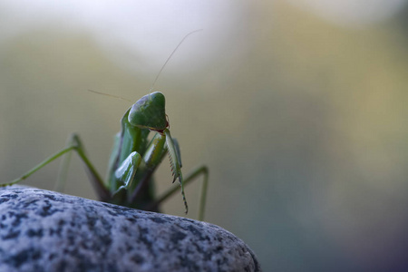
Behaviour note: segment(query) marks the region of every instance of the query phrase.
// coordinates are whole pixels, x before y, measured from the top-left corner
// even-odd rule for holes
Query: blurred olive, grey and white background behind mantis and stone
[[[406,267],[406,0],[0,2],[0,170],[14,180],[79,132],[105,173],[130,102],[167,99],[183,170],[210,170],[206,219],[264,271]],[[24,183],[53,189],[59,161]],[[170,186],[169,162],[158,190]],[[195,219],[199,185],[187,188]],[[95,199],[73,155],[65,192]],[[183,216],[180,195],[164,205]]]

